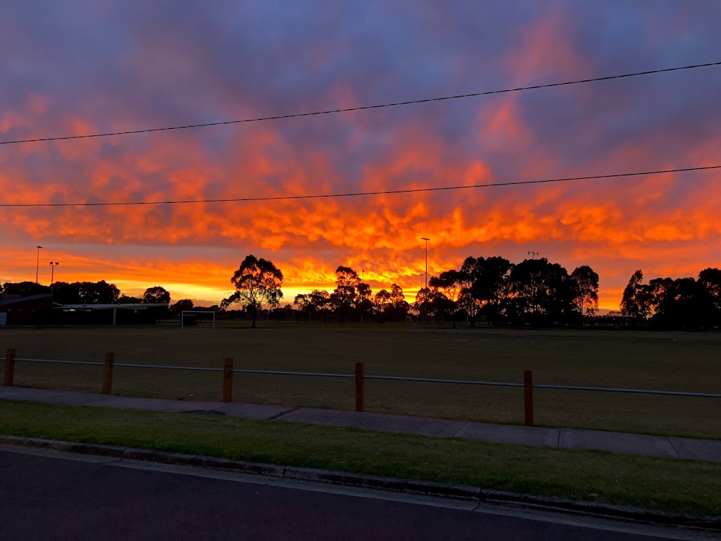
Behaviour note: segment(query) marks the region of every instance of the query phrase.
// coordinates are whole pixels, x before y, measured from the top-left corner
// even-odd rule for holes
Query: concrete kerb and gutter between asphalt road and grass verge
[[[314,468],[280,466],[262,462],[244,462],[217,457],[206,457],[196,454],[164,452],[152,449],[133,449],[112,445],[85,444],[70,441],[56,441],[22,436],[1,436],[0,447],[30,447],[50,451],[76,454],[92,454],[102,457],[113,457],[124,462],[152,462],[163,465],[200,467],[213,470],[224,470],[246,475],[262,475],[279,480],[295,480],[327,485],[344,485],[356,488],[371,488],[381,491],[412,493],[424,496],[442,496],[477,501],[479,504],[501,504],[517,508],[544,511],[562,511],[578,514],[593,514],[613,519],[632,520],[661,524],[665,526],[682,526],[709,529],[721,532],[721,516],[695,516],[681,513],[667,513],[650,509],[616,506],[610,503],[570,500],[552,496],[534,496],[505,491],[495,491],[468,485],[449,483],[433,483],[430,481],[386,478],[379,475],[363,475],[358,473],[317,470]]]

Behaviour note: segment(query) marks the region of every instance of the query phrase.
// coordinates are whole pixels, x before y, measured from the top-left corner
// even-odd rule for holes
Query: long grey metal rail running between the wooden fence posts
[[[0,360],[4,360],[4,357],[0,357]],[[16,361],[30,361],[36,363],[53,363],[53,364],[85,364],[102,366],[103,363],[89,362],[89,361],[56,361],[51,359],[15,359]],[[150,369],[165,369],[165,370],[197,370],[197,371],[208,371],[208,372],[222,372],[222,368],[207,368],[204,366],[168,366],[162,364],[128,364],[128,363],[114,363],[113,366],[123,366],[124,368],[150,368]],[[293,372],[293,371],[280,371],[280,370],[252,370],[252,369],[234,369],[234,372],[239,374],[271,374],[278,376],[308,376],[308,377],[340,377],[340,378],[353,378],[354,374],[331,374],[324,372]],[[463,385],[487,385],[491,387],[523,387],[523,383],[505,383],[505,382],[478,382],[471,379],[435,379],[425,377],[402,377],[402,376],[371,376],[364,375],[364,379],[387,379],[400,382],[423,382],[423,383],[453,383]],[[534,389],[556,389],[564,391],[591,391],[591,392],[626,392],[636,395],[666,395],[666,396],[685,396],[694,398],[721,398],[721,395],[714,395],[711,393],[704,392],[682,392],[682,391],[654,391],[646,389],[623,389],[614,387],[581,387],[577,385],[545,385],[545,384],[534,384]]]

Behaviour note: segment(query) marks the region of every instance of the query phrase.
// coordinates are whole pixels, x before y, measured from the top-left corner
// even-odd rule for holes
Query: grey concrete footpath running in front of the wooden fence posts
[[[614,453],[721,462],[721,441],[707,439],[646,436],[624,432],[577,430],[575,428],[541,428],[448,421],[386,413],[288,408],[280,405],[159,400],[22,387],[0,387],[0,399],[174,413],[212,412],[231,417],[274,419],[325,426],[349,426],[375,431],[455,437],[500,444],[564,449],[599,449]]]

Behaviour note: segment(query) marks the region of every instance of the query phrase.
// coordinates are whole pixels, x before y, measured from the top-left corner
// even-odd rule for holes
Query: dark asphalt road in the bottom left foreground
[[[389,501],[0,450],[0,539],[658,540],[469,509]],[[228,478],[222,478],[227,475]],[[320,489],[324,490],[324,489]],[[350,492],[350,491],[349,491]],[[573,522],[573,521],[572,521]],[[576,521],[579,522],[579,521]],[[583,522],[583,521],[580,521]],[[593,521],[590,521],[593,522]],[[645,527],[641,527],[643,531]],[[623,529],[623,528],[622,528]],[[633,527],[631,527],[633,529]],[[688,537],[693,538],[693,537]]]

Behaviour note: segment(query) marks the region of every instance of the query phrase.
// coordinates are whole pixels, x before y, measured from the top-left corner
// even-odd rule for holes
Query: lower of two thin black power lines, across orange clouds
[[[598,180],[619,177],[638,177],[642,175],[662,175],[665,173],[681,173],[689,171],[705,171],[721,169],[721,165],[708,165],[705,167],[684,167],[683,169],[665,169],[658,171],[636,171],[629,173],[615,173],[614,175],[588,175],[584,177],[562,177],[544,180],[518,180],[515,182],[491,182],[488,184],[473,184],[462,186],[436,186],[435,188],[407,188],[404,190],[379,190],[373,192],[350,193],[319,193],[312,195],[278,195],[275,197],[247,197],[228,199],[181,199],[177,201],[107,201],[99,203],[0,203],[0,207],[63,207],[63,206],[134,206],[134,205],[182,205],[190,203],[246,203],[252,201],[293,201],[298,199],[324,199],[340,197],[360,197],[363,195],[393,195],[396,193],[423,193],[441,192],[448,190],[468,190],[471,188],[497,188],[500,186],[520,186],[528,184],[549,184],[551,182],[569,182],[571,180]]]

